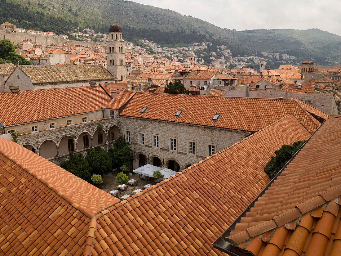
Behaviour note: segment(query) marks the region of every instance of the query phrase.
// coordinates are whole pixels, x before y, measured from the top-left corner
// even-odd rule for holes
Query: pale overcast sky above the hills
[[[341,35],[341,1],[133,0],[228,29],[318,28]]]

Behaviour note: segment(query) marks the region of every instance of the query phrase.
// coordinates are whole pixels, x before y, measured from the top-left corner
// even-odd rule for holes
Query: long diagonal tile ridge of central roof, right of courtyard
[[[204,158],[204,159],[202,159],[202,160],[200,160],[200,161],[194,163],[194,164],[191,165],[190,167],[188,167],[188,168],[186,168],[186,169],[184,169],[184,170],[182,170],[182,171],[180,171],[180,172],[178,172],[178,173],[176,173],[176,174],[170,176],[169,178],[164,179],[163,181],[160,181],[160,182],[158,182],[157,184],[154,184],[154,185],[152,185],[151,187],[144,189],[144,190],[146,190],[145,192],[140,191],[139,193],[130,196],[128,199],[124,199],[124,200],[122,200],[122,201],[120,201],[120,202],[117,202],[117,203],[115,203],[115,204],[113,204],[113,205],[111,205],[111,206],[106,207],[106,208],[103,209],[103,210],[100,210],[99,212],[95,213],[95,216],[98,215],[98,214],[100,214],[100,213],[103,213],[103,211],[105,211],[105,210],[109,210],[109,208],[111,208],[111,207],[115,207],[115,208],[113,208],[113,209],[111,209],[111,210],[117,209],[117,208],[119,208],[121,205],[123,205],[124,203],[127,203],[127,202],[129,202],[130,200],[133,200],[135,197],[138,197],[138,196],[140,196],[140,195],[143,195],[143,194],[147,193],[149,190],[152,190],[152,189],[154,189],[154,188],[160,186],[161,184],[167,183],[167,182],[169,182],[170,180],[175,179],[175,177],[177,177],[177,176],[179,176],[179,175],[181,175],[181,174],[183,174],[183,173],[187,173],[187,172],[190,171],[193,167],[198,166],[198,165],[201,165],[202,162],[203,162],[204,160],[210,159],[210,158],[212,158],[213,156],[216,156],[216,155],[219,155],[219,154],[225,152],[226,150],[230,149],[231,147],[234,147],[234,146],[240,144],[241,142],[243,142],[244,140],[247,140],[247,139],[249,139],[250,137],[255,136],[255,134],[260,133],[261,131],[263,131],[263,130],[269,128],[269,127],[271,127],[272,125],[274,125],[274,124],[280,122],[282,119],[284,119],[284,118],[286,118],[286,117],[288,117],[288,116],[290,116],[290,115],[293,116],[293,114],[290,113],[290,114],[288,114],[288,115],[286,115],[286,116],[283,116],[283,117],[277,119],[275,122],[272,122],[271,124],[269,124],[269,125],[263,127],[262,129],[260,129],[260,130],[258,130],[258,131],[256,131],[256,132],[252,133],[250,136],[248,136],[248,137],[246,137],[246,138],[244,138],[244,139],[242,139],[242,140],[240,140],[240,141],[237,141],[236,143],[234,143],[234,144],[232,144],[232,145],[230,145],[230,146],[228,146],[228,147],[226,147],[226,148],[224,148],[224,149],[218,151],[217,153],[214,153],[213,155],[210,155],[210,156],[208,156],[208,157],[206,157],[206,158]],[[300,123],[300,124],[301,124],[301,123]],[[301,125],[302,125],[302,124],[301,124]],[[303,126],[303,125],[302,125],[302,126]],[[303,126],[303,127],[304,127],[304,126]],[[158,185],[158,184],[159,184],[159,185]],[[109,210],[109,211],[111,211],[111,210]],[[106,213],[104,213],[104,214],[106,214]],[[104,215],[104,214],[103,214],[103,215]],[[102,215],[101,215],[101,216],[102,216]],[[97,216],[96,216],[96,217],[97,217]],[[99,217],[100,217],[100,216],[99,216]],[[99,218],[99,217],[97,217],[97,218]]]

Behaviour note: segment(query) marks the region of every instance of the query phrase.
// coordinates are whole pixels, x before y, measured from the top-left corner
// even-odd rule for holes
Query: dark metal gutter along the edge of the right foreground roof
[[[276,174],[276,176],[272,178],[272,180],[269,182],[269,184],[265,186],[265,188],[261,191],[260,194],[258,194],[258,196],[256,196],[256,198],[250,203],[250,205],[234,220],[234,222],[232,222],[232,224],[224,231],[224,233],[222,233],[221,236],[218,237],[216,239],[216,241],[214,241],[212,243],[214,248],[216,248],[216,249],[218,249],[218,250],[220,250],[222,252],[225,252],[225,253],[228,253],[228,254],[233,254],[233,255],[236,255],[236,256],[250,256],[250,255],[253,255],[249,251],[242,250],[239,247],[231,246],[231,244],[229,242],[225,241],[224,237],[229,237],[230,236],[230,233],[231,233],[232,230],[235,229],[236,224],[240,223],[241,218],[245,217],[246,213],[249,212],[252,207],[254,207],[254,204],[255,204],[256,201],[258,201],[258,198],[263,196],[265,191],[268,190],[268,188],[272,185],[273,182],[275,182],[277,177],[283,172],[283,170],[287,167],[287,165],[296,157],[296,155],[307,144],[307,142],[314,136],[315,132],[318,129],[320,129],[320,127],[324,124],[324,122],[326,122],[326,120],[323,121],[323,123],[313,132],[313,134],[311,134],[311,136],[306,140],[306,142],[303,143],[303,145],[299,148],[299,150],[282,167],[282,169]]]

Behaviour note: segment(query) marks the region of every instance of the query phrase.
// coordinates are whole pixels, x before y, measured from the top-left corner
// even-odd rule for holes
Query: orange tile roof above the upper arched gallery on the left
[[[21,124],[96,111],[110,100],[98,85],[0,93],[0,123]]]

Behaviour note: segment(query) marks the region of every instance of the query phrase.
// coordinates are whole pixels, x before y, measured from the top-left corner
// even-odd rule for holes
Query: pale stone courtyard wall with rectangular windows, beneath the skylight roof
[[[138,157],[145,155],[152,163],[154,157],[161,159],[167,167],[169,160],[175,160],[180,169],[186,168],[208,156],[208,145],[214,145],[218,152],[233,143],[244,139],[250,132],[222,128],[181,124],[157,120],[120,117],[121,132],[125,136],[130,131],[130,148],[134,154],[134,169],[138,167]],[[139,143],[139,133],[144,133],[145,144]],[[154,135],[159,136],[159,148],[154,147]],[[170,150],[170,139],[177,142],[177,150]],[[189,141],[195,142],[195,154],[189,154]]]

